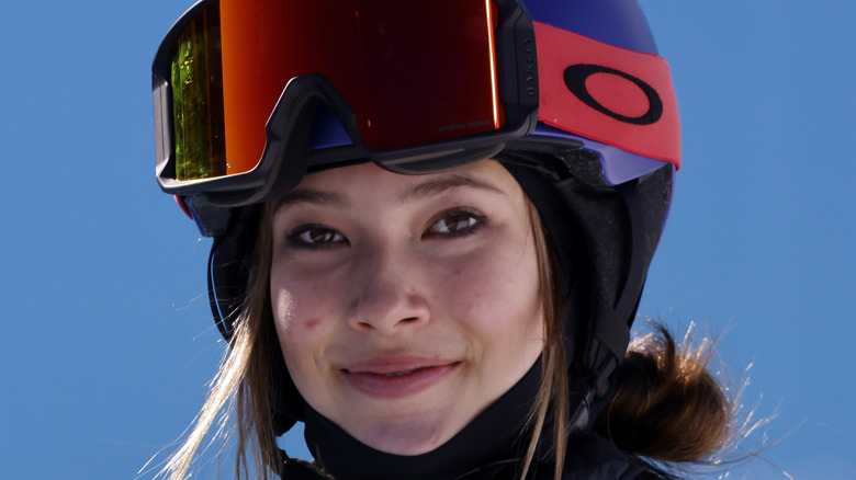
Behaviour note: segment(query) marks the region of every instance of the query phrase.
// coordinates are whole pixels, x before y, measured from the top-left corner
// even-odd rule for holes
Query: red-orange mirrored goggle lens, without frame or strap
[[[177,180],[256,167],[294,77],[323,73],[370,150],[489,132],[497,92],[491,0],[221,0],[183,25],[170,64]]]

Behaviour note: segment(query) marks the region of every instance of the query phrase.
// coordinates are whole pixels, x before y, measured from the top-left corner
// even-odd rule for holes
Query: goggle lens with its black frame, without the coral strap
[[[515,0],[201,1],[153,65],[158,180],[238,206],[348,158],[402,173],[484,158],[534,128],[532,42]],[[335,121],[350,145],[309,155],[313,124]]]

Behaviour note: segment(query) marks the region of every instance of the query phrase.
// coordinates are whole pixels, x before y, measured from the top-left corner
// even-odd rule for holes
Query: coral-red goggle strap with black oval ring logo
[[[666,60],[541,22],[534,28],[539,121],[680,167],[680,119]]]

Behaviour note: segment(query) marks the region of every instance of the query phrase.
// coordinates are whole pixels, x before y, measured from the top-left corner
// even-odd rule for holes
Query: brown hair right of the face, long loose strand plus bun
[[[562,340],[570,332],[564,331],[562,323],[563,293],[555,252],[534,204],[528,204],[547,339],[542,385],[532,411],[532,438],[520,478],[526,477],[531,465],[537,439],[552,405],[554,478],[559,480],[567,448],[564,425],[570,409]],[[714,354],[713,342],[706,339],[694,344],[689,333],[684,344],[678,345],[664,325],[655,324],[654,332],[635,338],[615,374],[616,390],[594,427],[618,449],[664,476],[668,476],[665,470],[671,466],[703,462],[731,439],[729,427],[735,412],[734,399],[724,393],[725,388],[708,369]]]

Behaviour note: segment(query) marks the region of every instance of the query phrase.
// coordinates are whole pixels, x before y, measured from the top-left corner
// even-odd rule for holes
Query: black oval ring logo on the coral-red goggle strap
[[[640,90],[642,90],[645,96],[647,96],[647,112],[641,116],[627,116],[604,106],[600,102],[597,101],[597,99],[592,95],[592,93],[588,91],[588,88],[586,87],[586,80],[588,80],[588,78],[595,73],[616,75],[633,82],[637,87],[639,87]],[[654,90],[654,88],[650,84],[638,79],[637,77],[633,77],[632,75],[599,65],[577,64],[572,65],[565,69],[564,79],[567,90],[576,95],[579,101],[602,113],[604,115],[608,115],[617,121],[633,125],[651,125],[657,122],[661,116],[663,116],[663,101],[660,99],[657,91]]]

